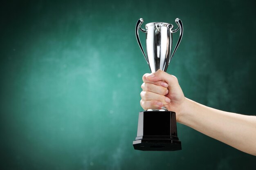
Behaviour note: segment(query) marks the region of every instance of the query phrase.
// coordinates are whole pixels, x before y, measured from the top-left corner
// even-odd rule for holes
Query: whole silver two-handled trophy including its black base
[[[141,28],[144,22],[140,18],[136,24],[135,35],[139,47],[149,65],[150,71],[155,73],[158,69],[166,71],[176,52],[183,34],[182,22],[179,18],[175,20],[178,28],[173,29],[172,24],[165,22],[151,22],[146,24],[146,29]],[[139,29],[146,33],[146,53],[139,40]],[[172,33],[180,29],[180,37],[172,51]],[[177,125],[175,112],[167,110],[166,107],[152,108],[139,113],[137,137],[133,141],[135,150],[145,151],[174,151],[181,150],[181,141],[177,137]]]

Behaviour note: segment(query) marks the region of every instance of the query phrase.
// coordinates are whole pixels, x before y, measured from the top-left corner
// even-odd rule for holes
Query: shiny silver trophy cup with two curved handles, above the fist
[[[178,28],[173,29],[172,24],[168,24],[165,22],[151,22],[146,24],[146,30],[141,28],[141,24],[144,22],[142,18],[140,18],[136,24],[136,38],[139,44],[139,47],[149,65],[150,71],[155,73],[157,70],[166,71],[168,65],[175,54],[178,46],[180,45],[180,41],[183,35],[183,26],[182,22],[179,18],[175,20],[178,25]],[[146,33],[146,51],[147,56],[141,46],[141,42],[139,40],[139,29]],[[180,29],[180,38],[175,46],[173,54],[172,51],[172,43],[173,43],[173,33]]]

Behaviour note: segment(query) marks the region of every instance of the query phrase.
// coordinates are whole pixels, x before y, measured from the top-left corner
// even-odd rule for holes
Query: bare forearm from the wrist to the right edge
[[[256,117],[229,113],[186,99],[177,120],[238,150],[256,155]]]

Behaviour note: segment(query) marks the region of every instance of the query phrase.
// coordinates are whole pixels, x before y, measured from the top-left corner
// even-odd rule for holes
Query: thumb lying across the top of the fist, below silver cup
[[[170,75],[162,70],[158,70],[155,73],[151,73],[145,76],[145,78],[150,82],[164,81],[168,84],[168,86],[177,86],[179,82],[177,77],[174,75]]]

